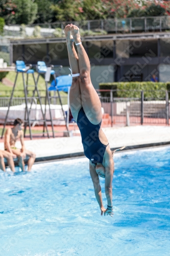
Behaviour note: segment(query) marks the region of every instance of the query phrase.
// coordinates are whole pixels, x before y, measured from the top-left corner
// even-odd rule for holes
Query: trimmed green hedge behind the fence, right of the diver
[[[167,82],[109,82],[100,83],[99,89],[116,90],[114,97],[140,98],[144,91],[144,98],[164,98],[165,91],[170,91],[170,83]],[[110,92],[100,92],[102,96],[110,97]]]

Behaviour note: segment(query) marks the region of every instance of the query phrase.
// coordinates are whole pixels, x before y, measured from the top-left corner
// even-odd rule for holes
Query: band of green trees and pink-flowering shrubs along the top
[[[170,1],[0,0],[6,24],[170,15]]]

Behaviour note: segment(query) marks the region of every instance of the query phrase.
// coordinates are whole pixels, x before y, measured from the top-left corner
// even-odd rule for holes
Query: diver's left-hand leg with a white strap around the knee
[[[70,25],[67,25],[64,29],[66,42],[67,42],[69,64],[70,64],[72,74],[78,74],[79,73],[78,55],[74,47],[74,42],[72,39],[70,29],[71,29]],[[79,111],[82,108],[79,76],[72,77],[72,84],[69,92],[69,101],[70,101],[70,109],[71,109],[72,116],[77,121]]]

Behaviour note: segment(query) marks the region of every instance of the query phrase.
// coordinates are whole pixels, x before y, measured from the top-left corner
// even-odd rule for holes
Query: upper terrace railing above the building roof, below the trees
[[[100,31],[105,30],[108,33],[133,33],[133,32],[161,32],[170,30],[169,16],[155,17],[134,17],[117,18],[104,20],[82,20],[81,22],[71,22],[83,30]],[[41,37],[55,37],[55,29],[64,27],[70,22],[55,22],[45,24],[33,24],[26,26],[25,31],[19,25],[9,25],[4,28],[4,36],[11,38],[25,38],[33,36],[35,26],[40,26]],[[64,36],[64,34],[63,34]]]

